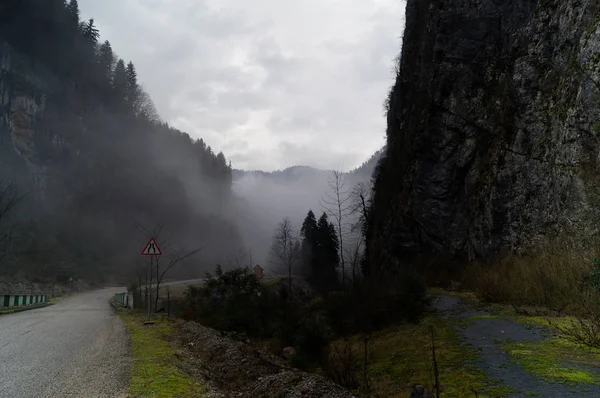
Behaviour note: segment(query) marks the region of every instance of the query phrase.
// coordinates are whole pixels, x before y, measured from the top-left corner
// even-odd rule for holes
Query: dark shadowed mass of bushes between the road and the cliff
[[[330,292],[302,305],[279,286],[262,285],[247,269],[217,269],[215,276],[207,275],[205,286],[188,289],[181,314],[217,330],[275,338],[278,350],[288,345],[296,349],[297,354],[290,358],[294,366],[329,367],[332,377],[350,385],[353,382],[345,362],[351,352],[340,351],[331,363],[329,343],[397,321],[414,321],[427,305],[425,297],[415,274],[405,273],[372,289],[363,286],[353,292]]]

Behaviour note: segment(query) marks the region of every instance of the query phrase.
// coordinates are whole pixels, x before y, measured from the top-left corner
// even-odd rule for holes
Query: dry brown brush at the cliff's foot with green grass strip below
[[[554,242],[528,256],[474,265],[463,280],[484,302],[509,305],[529,319],[541,317],[563,338],[600,348],[599,255]]]

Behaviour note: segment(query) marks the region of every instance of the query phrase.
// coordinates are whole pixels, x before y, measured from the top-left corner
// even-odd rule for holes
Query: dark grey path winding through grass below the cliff
[[[454,296],[436,297],[435,307],[444,317],[451,319],[491,315],[469,308]],[[600,397],[600,386],[597,385],[573,387],[549,383],[527,373],[521,365],[512,363],[510,356],[497,343],[498,340],[507,339],[514,343],[540,341],[549,337],[550,331],[544,328],[524,326],[502,317],[490,317],[469,319],[468,326],[457,327],[457,330],[463,334],[465,343],[479,351],[481,368],[489,378],[502,380],[505,385],[520,391],[512,397],[527,396],[526,392],[536,392],[543,397]]]

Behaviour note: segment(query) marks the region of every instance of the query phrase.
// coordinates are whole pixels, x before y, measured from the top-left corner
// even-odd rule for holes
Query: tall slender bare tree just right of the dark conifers
[[[342,263],[342,286],[346,287],[346,260],[344,259],[344,237],[347,233],[347,217],[352,212],[352,197],[346,188],[344,174],[333,170],[327,181],[329,192],[321,198],[321,206],[328,216],[334,219],[340,242],[339,254]]]

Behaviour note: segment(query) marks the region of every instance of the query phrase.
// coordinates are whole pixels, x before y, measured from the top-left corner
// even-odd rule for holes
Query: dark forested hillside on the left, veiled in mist
[[[0,3],[0,150],[2,274],[132,278],[162,225],[204,248],[175,271],[195,276],[238,240],[223,153],[160,121],[76,0]]]

